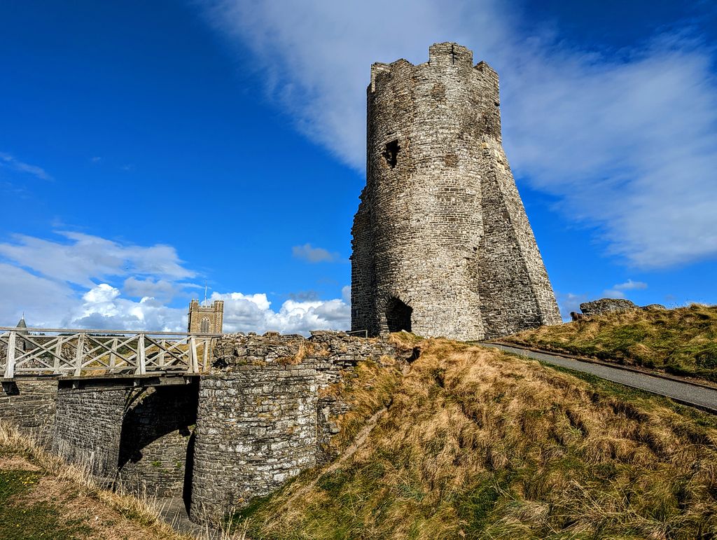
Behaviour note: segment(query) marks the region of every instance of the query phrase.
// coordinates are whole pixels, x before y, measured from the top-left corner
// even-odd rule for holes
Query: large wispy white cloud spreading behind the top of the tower
[[[298,128],[356,169],[371,63],[424,62],[432,42],[457,41],[500,74],[518,175],[595,227],[609,252],[640,267],[717,255],[717,84],[711,50],[685,34],[601,55],[527,34],[514,4],[490,0],[201,4],[254,52]]]

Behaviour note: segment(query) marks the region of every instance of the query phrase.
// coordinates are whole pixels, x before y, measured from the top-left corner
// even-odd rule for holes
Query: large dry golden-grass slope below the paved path
[[[368,437],[235,523],[253,539],[717,535],[715,417],[479,346],[421,347]]]

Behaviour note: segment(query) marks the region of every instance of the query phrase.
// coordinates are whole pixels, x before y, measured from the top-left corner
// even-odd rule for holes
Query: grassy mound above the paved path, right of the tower
[[[503,338],[717,382],[717,306],[627,311]]]

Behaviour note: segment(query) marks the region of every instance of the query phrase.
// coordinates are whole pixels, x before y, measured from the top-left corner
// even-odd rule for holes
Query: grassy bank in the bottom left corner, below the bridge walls
[[[181,539],[146,501],[100,490],[0,423],[0,539]]]

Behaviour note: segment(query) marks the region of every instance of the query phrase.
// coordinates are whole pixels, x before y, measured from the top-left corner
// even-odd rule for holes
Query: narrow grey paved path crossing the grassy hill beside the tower
[[[676,402],[691,405],[704,409],[713,414],[717,414],[717,389],[695,386],[687,382],[680,382],[674,379],[662,379],[660,377],[636,373],[635,371],[627,371],[617,367],[605,366],[604,364],[594,364],[588,361],[580,361],[564,356],[556,356],[554,354],[531,351],[529,349],[521,349],[502,344],[482,343],[481,346],[502,349],[520,356],[527,356],[546,364],[554,364],[575,371],[584,371],[585,373],[599,376],[601,379],[607,379],[612,382],[625,384],[627,387],[639,388],[674,399]]]

